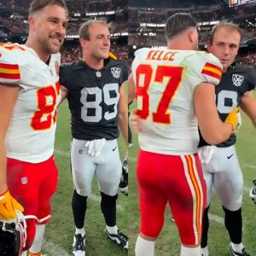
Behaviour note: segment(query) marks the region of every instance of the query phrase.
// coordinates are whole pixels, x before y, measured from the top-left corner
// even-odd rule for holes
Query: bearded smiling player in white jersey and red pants
[[[57,67],[66,4],[33,0],[28,23],[25,45],[0,44],[0,219],[15,218],[23,207],[25,215],[38,218],[27,220],[23,250],[31,247],[39,256],[58,175],[53,158],[61,100]]]

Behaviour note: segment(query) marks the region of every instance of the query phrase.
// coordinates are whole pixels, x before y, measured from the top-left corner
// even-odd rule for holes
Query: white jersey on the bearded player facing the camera
[[[38,163],[53,154],[60,64],[60,54],[47,65],[25,45],[0,44],[0,84],[20,86],[5,140],[9,158]]]

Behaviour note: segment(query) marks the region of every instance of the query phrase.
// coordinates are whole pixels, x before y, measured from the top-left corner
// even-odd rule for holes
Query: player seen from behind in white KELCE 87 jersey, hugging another
[[[182,241],[181,255],[201,256],[206,183],[196,153],[197,125],[208,142],[221,143],[236,128],[236,110],[226,123],[218,118],[214,91],[222,65],[212,54],[196,51],[193,17],[172,15],[166,21],[166,39],[166,50],[137,50],[129,78],[141,119],[137,179],[142,223],[135,253],[154,255],[168,203]]]

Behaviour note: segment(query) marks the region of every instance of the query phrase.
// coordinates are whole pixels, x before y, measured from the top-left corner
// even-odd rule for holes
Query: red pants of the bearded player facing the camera
[[[24,215],[33,215],[39,219],[26,219],[26,247],[32,246],[36,224],[49,222],[50,199],[57,186],[58,170],[53,156],[44,162],[32,164],[20,160],[8,159],[7,179],[10,194],[24,207]]]

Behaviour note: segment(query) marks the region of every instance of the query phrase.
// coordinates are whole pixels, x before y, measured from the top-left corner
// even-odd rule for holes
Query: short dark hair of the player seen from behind
[[[177,13],[166,20],[166,39],[171,39],[177,34],[188,29],[190,26],[197,27],[197,23],[192,15],[186,13]]]

